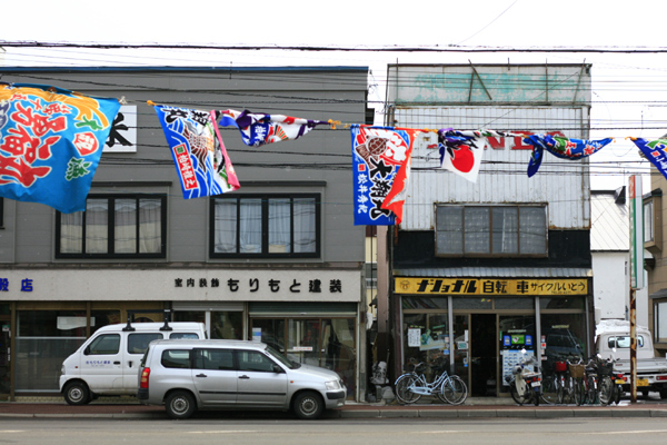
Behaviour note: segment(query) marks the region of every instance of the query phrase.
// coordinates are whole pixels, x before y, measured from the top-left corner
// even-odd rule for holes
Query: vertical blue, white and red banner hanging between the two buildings
[[[351,127],[355,225],[391,226],[402,220],[416,129]]]

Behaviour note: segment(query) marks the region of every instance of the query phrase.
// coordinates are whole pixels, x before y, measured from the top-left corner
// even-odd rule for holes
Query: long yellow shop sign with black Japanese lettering
[[[396,278],[396,293],[412,295],[588,295],[588,279]]]

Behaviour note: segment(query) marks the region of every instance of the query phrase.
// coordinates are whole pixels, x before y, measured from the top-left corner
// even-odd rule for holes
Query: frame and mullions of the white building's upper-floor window
[[[462,225],[464,227],[460,230],[460,236],[461,236],[461,253],[452,253],[452,254],[448,254],[448,253],[441,253],[438,250],[438,220],[437,220],[437,215],[438,215],[438,208],[442,208],[442,207],[460,207],[462,210]],[[486,208],[488,209],[488,219],[485,221],[486,226],[488,227],[488,230],[485,231],[485,236],[488,237],[488,253],[467,253],[466,251],[466,209],[481,209],[481,208]],[[516,208],[517,209],[517,229],[516,229],[516,237],[517,237],[517,251],[516,253],[494,253],[494,209],[496,208]],[[545,212],[545,226],[544,226],[544,234],[545,234],[545,247],[544,247],[544,253],[540,254],[522,254],[521,253],[521,209],[522,208],[539,208],[542,209]],[[494,204],[484,204],[484,205],[467,205],[467,204],[445,204],[445,202],[436,202],[435,204],[435,209],[434,209],[434,215],[436,216],[436,228],[434,230],[434,236],[435,236],[435,256],[436,257],[447,257],[447,258],[452,258],[452,257],[476,257],[476,258],[516,258],[516,257],[521,257],[521,258],[545,258],[548,257],[549,255],[549,215],[548,215],[548,206],[546,204],[541,204],[541,205],[536,205],[536,204],[511,204],[511,205],[494,205]]]

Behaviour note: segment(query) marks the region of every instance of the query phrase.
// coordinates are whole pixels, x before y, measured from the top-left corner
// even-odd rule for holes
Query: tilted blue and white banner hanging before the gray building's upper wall
[[[153,108],[171,148],[185,199],[220,195],[241,187],[218,134],[215,111],[163,105],[153,105]]]

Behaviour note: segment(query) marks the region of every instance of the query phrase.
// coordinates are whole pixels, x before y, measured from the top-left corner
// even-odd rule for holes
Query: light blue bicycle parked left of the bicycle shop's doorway
[[[468,397],[468,387],[457,375],[449,375],[445,370],[445,364],[430,365],[436,370],[436,377],[431,383],[426,380],[424,370],[427,366],[419,363],[414,370],[402,374],[396,379],[396,398],[402,404],[412,404],[422,395],[435,395],[441,402],[450,405],[460,405]]]

